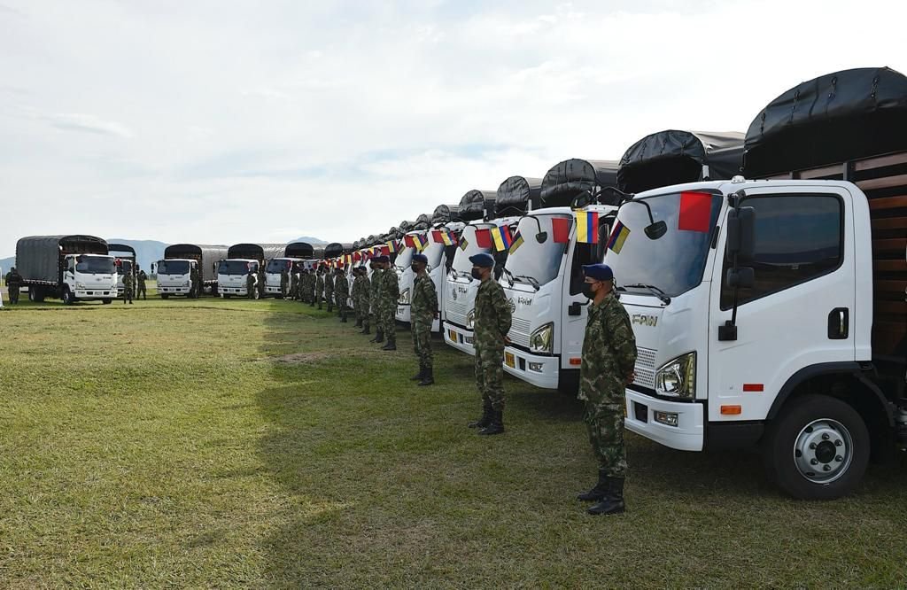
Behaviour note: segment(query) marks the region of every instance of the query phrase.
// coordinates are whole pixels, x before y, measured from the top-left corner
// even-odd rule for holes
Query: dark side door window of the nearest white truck
[[[751,289],[741,289],[740,304],[814,280],[844,260],[844,203],[832,194],[790,194],[746,199],[756,210],[755,270]],[[722,268],[721,309],[729,310],[734,291],[724,284],[730,262]]]

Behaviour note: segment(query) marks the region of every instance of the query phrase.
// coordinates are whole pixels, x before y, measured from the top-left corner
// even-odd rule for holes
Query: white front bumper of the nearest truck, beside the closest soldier
[[[630,432],[682,451],[703,449],[705,408],[700,402],[667,401],[631,389],[626,389],[626,402],[627,419],[624,420],[624,426]],[[663,419],[676,419],[677,426],[659,422],[656,412]]]

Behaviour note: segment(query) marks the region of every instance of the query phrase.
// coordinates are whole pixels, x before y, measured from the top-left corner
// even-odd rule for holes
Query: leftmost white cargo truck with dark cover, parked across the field
[[[86,235],[29,236],[15,244],[16,269],[28,299],[59,298],[110,303],[117,296],[117,271],[107,242]]]

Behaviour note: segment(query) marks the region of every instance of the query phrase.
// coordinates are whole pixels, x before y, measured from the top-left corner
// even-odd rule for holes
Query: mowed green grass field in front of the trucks
[[[579,402],[409,333],[383,352],[289,301],[0,311],[0,586],[630,587],[907,583],[907,465],[800,502],[759,458],[628,437],[629,511],[587,516]]]

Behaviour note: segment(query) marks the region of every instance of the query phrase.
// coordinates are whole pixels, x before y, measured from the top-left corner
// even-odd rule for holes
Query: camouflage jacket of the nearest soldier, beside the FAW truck
[[[599,304],[590,303],[577,398],[623,404],[627,376],[635,365],[636,337],[627,310],[613,293]]]

